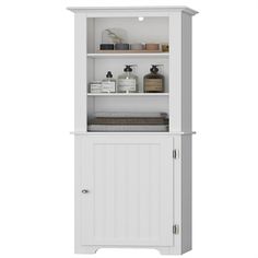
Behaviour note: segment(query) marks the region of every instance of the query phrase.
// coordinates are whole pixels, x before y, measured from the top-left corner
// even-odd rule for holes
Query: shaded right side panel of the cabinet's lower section
[[[191,249],[191,136],[181,137],[181,253]]]

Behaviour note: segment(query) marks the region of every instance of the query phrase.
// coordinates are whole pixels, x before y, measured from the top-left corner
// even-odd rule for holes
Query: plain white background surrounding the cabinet
[[[258,1],[189,5],[194,17],[194,250],[258,257]],[[110,1],[5,1],[0,14],[0,256],[73,255],[73,14]],[[160,257],[101,249],[94,257]]]

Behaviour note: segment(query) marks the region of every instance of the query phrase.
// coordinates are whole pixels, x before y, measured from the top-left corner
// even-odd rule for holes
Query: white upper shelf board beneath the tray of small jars
[[[169,52],[93,52],[86,55],[89,58],[168,58]]]

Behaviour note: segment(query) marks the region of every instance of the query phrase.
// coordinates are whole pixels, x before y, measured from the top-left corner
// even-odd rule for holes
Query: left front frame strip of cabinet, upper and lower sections
[[[86,15],[74,16],[74,131],[86,130]],[[81,250],[82,137],[74,138],[74,251]]]

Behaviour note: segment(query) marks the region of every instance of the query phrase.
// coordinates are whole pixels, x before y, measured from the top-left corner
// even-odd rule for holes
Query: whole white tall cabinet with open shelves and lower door
[[[191,249],[191,16],[186,7],[68,8],[75,47],[75,253],[99,248]],[[143,17],[143,21],[139,21]],[[142,19],[140,19],[142,20]],[[168,43],[168,52],[98,51],[102,31],[129,43]],[[89,82],[137,64],[139,93],[89,93]],[[164,93],[143,93],[150,64],[162,63]],[[167,131],[94,132],[99,112],[166,113]]]

